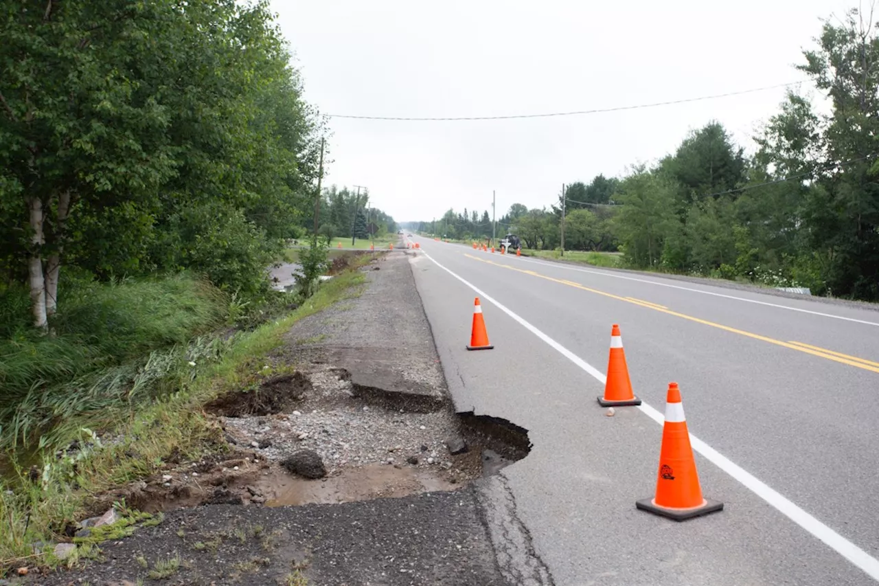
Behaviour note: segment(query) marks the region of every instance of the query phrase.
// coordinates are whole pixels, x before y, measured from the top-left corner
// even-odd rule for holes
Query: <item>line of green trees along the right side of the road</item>
[[[879,300],[879,37],[871,24],[856,10],[827,20],[803,53],[797,70],[828,99],[828,113],[789,91],[751,154],[712,121],[653,164],[570,183],[548,208],[513,204],[498,231],[557,248],[564,198],[566,250],[620,251],[629,267]],[[449,210],[443,225],[451,238],[490,236],[490,223],[486,230],[475,218]],[[430,222],[415,227],[432,231]]]

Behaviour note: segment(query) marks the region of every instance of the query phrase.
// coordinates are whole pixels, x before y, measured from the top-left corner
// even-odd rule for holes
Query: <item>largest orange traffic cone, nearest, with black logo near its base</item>
[[[723,502],[708,501],[702,497],[677,383],[668,384],[665,399],[656,496],[636,501],[635,506],[675,521],[723,510]]]

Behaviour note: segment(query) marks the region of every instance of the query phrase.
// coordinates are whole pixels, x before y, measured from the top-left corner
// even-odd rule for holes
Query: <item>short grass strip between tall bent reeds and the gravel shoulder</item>
[[[368,260],[370,255],[363,255],[352,261],[352,268]],[[91,429],[83,431],[76,458],[58,459],[52,451],[44,452],[43,466],[33,480],[13,462],[12,472],[0,480],[0,576],[16,564],[45,564],[45,556],[32,544],[62,537],[66,525],[84,516],[89,495],[155,473],[172,454],[194,459],[222,449],[222,430],[201,407],[222,392],[271,376],[271,370],[262,368],[264,357],[283,344],[287,330],[338,300],[359,296],[363,282],[365,276],[356,270],[323,282],[316,295],[295,311],[236,334],[217,360],[193,371],[173,392],[133,403],[127,412],[120,410],[113,425],[92,425],[91,429],[116,437],[113,443],[101,443]],[[105,419],[100,413],[91,414],[91,419],[84,415],[77,425]]]

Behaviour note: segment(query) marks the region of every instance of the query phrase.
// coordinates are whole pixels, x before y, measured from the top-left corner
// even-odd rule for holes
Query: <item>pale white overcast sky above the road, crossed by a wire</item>
[[[801,81],[839,0],[273,0],[306,99],[323,114],[542,114]],[[811,89],[808,84],[803,86]],[[752,149],[784,89],[674,106],[507,121],[331,119],[327,185],[369,188],[398,222],[454,208],[498,216],[562,183],[620,175],[716,119]]]

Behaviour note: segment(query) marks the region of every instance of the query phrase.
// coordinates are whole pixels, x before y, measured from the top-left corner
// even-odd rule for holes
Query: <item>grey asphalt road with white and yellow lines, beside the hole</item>
[[[556,584],[879,582],[879,312],[413,241],[456,408],[529,430],[503,473]],[[476,296],[495,348],[468,352]],[[644,404],[607,417],[614,323]],[[635,507],[671,381],[725,504],[683,523]]]

